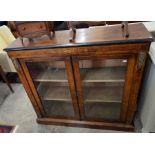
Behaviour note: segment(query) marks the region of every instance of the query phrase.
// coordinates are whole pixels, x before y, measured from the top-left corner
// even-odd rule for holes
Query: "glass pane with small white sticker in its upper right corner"
[[[120,120],[126,59],[81,60],[85,116]]]

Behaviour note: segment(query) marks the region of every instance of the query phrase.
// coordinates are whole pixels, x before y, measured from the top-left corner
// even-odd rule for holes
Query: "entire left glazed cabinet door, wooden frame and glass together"
[[[78,119],[70,57],[22,60],[43,117]]]

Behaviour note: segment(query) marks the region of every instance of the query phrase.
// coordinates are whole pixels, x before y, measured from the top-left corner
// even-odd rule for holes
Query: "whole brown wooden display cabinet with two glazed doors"
[[[37,113],[37,122],[133,130],[137,97],[152,37],[143,24],[56,32],[5,50]]]

